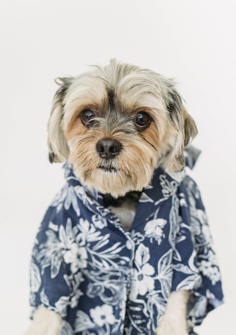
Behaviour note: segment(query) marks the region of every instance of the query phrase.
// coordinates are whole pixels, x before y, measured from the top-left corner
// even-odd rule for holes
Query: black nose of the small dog
[[[110,159],[119,153],[121,143],[110,138],[102,138],[97,142],[96,149],[102,158]]]

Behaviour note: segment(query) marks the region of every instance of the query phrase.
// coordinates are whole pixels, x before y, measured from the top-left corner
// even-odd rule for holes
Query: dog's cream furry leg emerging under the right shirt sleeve
[[[186,308],[189,291],[171,292],[164,315],[158,321],[156,335],[188,335]]]

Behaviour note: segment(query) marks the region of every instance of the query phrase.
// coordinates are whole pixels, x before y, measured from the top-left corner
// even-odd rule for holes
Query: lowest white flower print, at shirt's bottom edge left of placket
[[[99,326],[103,327],[105,324],[113,325],[116,321],[113,315],[113,308],[109,305],[97,306],[91,308],[90,315],[94,322]]]

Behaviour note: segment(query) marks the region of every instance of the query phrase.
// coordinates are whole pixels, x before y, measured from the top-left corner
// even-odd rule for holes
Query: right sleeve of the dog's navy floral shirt
[[[196,183],[186,176],[178,190],[179,222],[172,290],[192,291],[190,329],[223,303],[221,275],[205,208]]]

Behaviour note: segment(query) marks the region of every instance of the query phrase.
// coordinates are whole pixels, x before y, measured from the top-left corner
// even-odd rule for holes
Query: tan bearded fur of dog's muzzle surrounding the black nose
[[[73,163],[82,183],[101,193],[111,193],[114,197],[125,195],[130,190],[141,191],[149,184],[153,164],[157,165],[158,156],[155,148],[143,138],[121,132],[112,135],[97,128],[88,130],[77,139],[71,137],[71,134],[74,134],[73,128],[67,133],[72,144],[69,162]],[[106,137],[119,140],[122,144],[122,152],[111,162],[118,170],[116,173],[98,169],[100,165],[104,165],[104,160],[96,152],[96,143]]]

